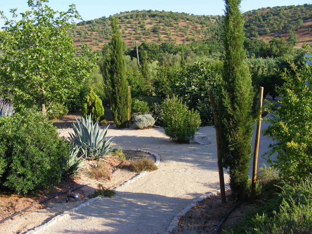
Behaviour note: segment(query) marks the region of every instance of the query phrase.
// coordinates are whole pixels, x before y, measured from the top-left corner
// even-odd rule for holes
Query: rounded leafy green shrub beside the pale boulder
[[[164,100],[161,111],[166,135],[181,143],[188,143],[201,124],[198,112],[188,110],[176,96]]]

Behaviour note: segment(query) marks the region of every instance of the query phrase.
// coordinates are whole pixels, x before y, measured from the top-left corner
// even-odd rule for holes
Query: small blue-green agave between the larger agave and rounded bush
[[[80,151],[79,146],[73,147],[69,157],[64,162],[64,169],[62,173],[63,179],[69,179],[70,177],[75,177],[78,171],[85,166],[85,159],[78,157],[78,153]]]

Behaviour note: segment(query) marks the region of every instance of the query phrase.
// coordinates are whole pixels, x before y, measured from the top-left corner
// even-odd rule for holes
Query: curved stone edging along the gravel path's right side
[[[231,190],[231,188],[229,186],[226,186],[225,191],[227,192],[229,190]],[[203,200],[206,200],[209,197],[213,197],[219,194],[220,194],[220,189],[217,189],[217,190],[213,190],[211,193],[204,194],[194,199],[187,207],[185,207],[180,213],[178,213],[176,217],[173,218],[165,234],[172,234],[173,230],[178,227],[180,219],[183,218],[185,214],[189,212],[193,207],[197,206]]]

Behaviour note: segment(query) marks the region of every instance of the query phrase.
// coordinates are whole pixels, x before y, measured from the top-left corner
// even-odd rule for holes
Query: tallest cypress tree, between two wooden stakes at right
[[[223,166],[229,168],[230,186],[236,198],[248,195],[254,93],[251,75],[244,63],[244,20],[241,0],[225,0],[224,72],[219,99],[220,150]]]

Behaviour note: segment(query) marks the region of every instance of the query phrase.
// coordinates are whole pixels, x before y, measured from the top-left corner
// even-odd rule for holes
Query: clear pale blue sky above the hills
[[[49,5],[53,10],[65,11],[68,5],[76,4],[76,8],[83,20],[91,20],[102,16],[110,16],[115,13],[131,10],[158,10],[185,12],[194,15],[223,15],[223,0],[50,0]],[[312,3],[312,0],[242,0],[241,11],[246,12],[262,7],[302,5]],[[0,11],[8,18],[11,17],[9,9],[18,8],[17,12],[28,9],[27,0],[0,0]],[[78,21],[79,22],[79,21]],[[0,28],[3,27],[3,20],[0,19]]]

